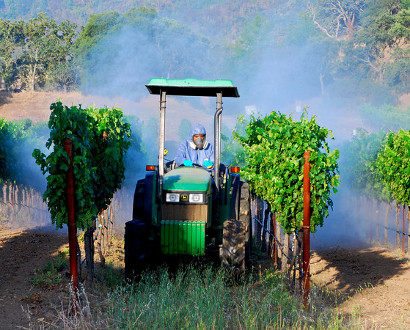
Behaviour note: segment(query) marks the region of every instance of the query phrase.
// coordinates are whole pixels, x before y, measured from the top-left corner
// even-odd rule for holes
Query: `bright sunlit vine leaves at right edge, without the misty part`
[[[394,199],[410,205],[410,130],[387,134],[376,168]]]

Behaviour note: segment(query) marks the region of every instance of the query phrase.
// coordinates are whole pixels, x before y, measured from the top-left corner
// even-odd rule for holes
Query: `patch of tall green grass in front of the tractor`
[[[299,303],[278,273],[260,282],[229,285],[229,274],[210,268],[144,274],[132,286],[117,287],[107,313],[115,327],[159,329],[275,328],[297,325]],[[280,306],[280,307],[277,307]],[[297,326],[296,326],[297,327]]]

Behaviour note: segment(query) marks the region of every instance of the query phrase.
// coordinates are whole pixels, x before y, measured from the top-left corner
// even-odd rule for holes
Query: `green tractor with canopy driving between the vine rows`
[[[222,96],[239,97],[230,80],[151,79],[160,96],[158,165],[147,165],[137,182],[133,220],[125,226],[125,275],[132,278],[167,256],[219,255],[234,272],[244,271],[251,249],[249,186],[239,167],[221,164]],[[214,170],[165,163],[166,96],[216,97]]]

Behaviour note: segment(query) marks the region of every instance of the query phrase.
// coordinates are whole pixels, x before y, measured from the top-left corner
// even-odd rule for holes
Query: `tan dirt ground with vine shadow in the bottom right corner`
[[[365,329],[410,328],[410,259],[382,247],[315,251],[311,279],[338,297],[337,310]]]

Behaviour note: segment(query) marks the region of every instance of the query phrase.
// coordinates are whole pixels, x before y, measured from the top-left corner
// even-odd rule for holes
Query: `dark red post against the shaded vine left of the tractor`
[[[70,139],[65,140],[64,150],[70,159],[67,173],[67,210],[68,210],[68,244],[70,252],[70,275],[73,281],[74,306],[78,306],[78,272],[77,272],[77,227],[75,223],[74,204],[74,173],[73,173],[73,144]],[[76,309],[76,308],[75,308]]]

